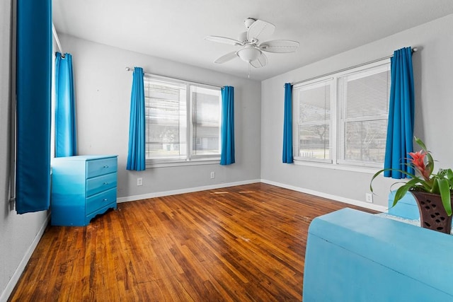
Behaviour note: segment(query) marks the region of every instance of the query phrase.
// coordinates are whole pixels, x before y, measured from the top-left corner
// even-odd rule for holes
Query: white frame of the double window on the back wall
[[[145,74],[144,81],[153,79],[157,81],[166,81],[169,83],[174,83],[176,85],[185,85],[185,106],[186,106],[186,135],[185,139],[187,143],[185,144],[185,155],[180,157],[162,157],[162,158],[146,158],[146,163],[148,168],[158,168],[158,167],[167,167],[167,166],[178,166],[178,165],[202,165],[202,164],[213,164],[219,163],[220,161],[220,146],[221,146],[221,136],[220,136],[220,125],[221,125],[221,110],[222,110],[222,96],[221,88],[219,86],[213,86],[205,83],[196,83],[192,81],[185,81],[180,79],[173,79],[166,76],[158,76],[154,74]],[[204,154],[197,155],[193,154],[193,100],[191,98],[191,87],[197,87],[202,89],[210,89],[214,91],[219,91],[219,153],[218,154]],[[147,121],[145,121],[147,122]],[[145,138],[146,140],[148,137]],[[147,141],[146,141],[147,143]]]

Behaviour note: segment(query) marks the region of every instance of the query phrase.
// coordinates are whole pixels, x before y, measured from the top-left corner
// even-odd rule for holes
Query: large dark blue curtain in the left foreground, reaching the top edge
[[[52,1],[17,1],[16,211],[50,206]]]

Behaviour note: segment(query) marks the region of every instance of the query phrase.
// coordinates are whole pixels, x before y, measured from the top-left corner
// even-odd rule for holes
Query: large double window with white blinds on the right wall
[[[294,159],[382,166],[390,83],[386,60],[294,86]]]

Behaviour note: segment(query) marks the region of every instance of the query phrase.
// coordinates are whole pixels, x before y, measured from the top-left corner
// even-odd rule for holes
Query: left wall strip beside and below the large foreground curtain
[[[18,215],[9,200],[11,1],[0,1],[0,301],[6,301],[44,231],[47,211]]]

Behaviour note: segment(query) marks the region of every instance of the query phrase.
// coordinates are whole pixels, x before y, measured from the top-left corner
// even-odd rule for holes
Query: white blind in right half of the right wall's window
[[[340,160],[384,162],[390,83],[389,66],[339,78]]]

